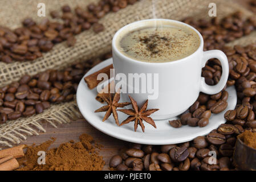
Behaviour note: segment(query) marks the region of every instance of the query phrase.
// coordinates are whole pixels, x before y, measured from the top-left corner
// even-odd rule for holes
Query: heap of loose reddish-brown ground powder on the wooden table
[[[101,170],[105,164],[103,157],[96,149],[102,147],[93,142],[90,135],[82,134],[79,142],[71,140],[62,143],[58,148],[48,148],[54,143],[55,138],[51,138],[38,146],[33,144],[27,147],[25,156],[18,160],[21,168],[19,171],[82,171]],[[46,152],[46,164],[39,165],[38,151]]]

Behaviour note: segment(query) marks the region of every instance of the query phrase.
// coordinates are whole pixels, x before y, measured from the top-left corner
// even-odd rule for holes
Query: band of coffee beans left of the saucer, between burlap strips
[[[74,64],[64,71],[47,70],[0,88],[0,123],[42,113],[51,104],[74,100],[84,74],[111,53],[100,59]]]

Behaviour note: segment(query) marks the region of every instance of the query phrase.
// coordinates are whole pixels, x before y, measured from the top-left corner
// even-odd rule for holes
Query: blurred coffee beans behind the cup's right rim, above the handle
[[[256,28],[256,18],[243,18],[241,12],[226,16],[219,20],[214,17],[211,21],[186,18],[183,22],[196,28],[204,38],[204,51],[221,49],[225,43],[250,34]]]

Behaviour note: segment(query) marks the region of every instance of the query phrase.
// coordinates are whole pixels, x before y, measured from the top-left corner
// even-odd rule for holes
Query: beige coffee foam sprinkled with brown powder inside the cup
[[[138,61],[164,63],[192,55],[200,38],[192,28],[170,23],[145,26],[124,34],[117,42],[123,55]]]

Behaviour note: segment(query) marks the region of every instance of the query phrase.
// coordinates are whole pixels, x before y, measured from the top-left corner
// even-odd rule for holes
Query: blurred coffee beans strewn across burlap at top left
[[[35,60],[58,44],[67,40],[68,46],[76,43],[75,35],[93,27],[98,33],[104,30],[104,26],[98,20],[109,12],[116,12],[132,5],[137,0],[101,0],[99,3],[92,3],[87,9],[76,7],[72,13],[70,6],[62,7],[62,14],[59,11],[52,11],[52,18],[61,18],[62,23],[51,22],[43,19],[36,24],[31,18],[23,20],[23,27],[10,30],[7,27],[0,27],[0,60],[4,63],[15,61]]]

